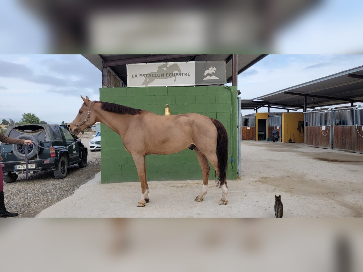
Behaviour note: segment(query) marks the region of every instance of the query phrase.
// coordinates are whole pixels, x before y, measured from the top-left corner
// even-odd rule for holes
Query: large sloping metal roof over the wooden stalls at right
[[[328,75],[253,100],[307,108],[363,102],[363,66]]]

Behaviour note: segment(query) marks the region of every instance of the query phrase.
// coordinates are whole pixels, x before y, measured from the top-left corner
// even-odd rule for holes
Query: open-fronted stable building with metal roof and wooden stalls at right
[[[363,153],[362,103],[363,66],[359,66],[263,95],[253,100],[244,100],[241,102],[241,109],[249,109],[254,105],[257,125],[261,116],[262,118],[269,118],[269,114],[257,114],[258,108],[277,107],[287,111],[301,109],[304,115],[303,139],[306,145]],[[332,107],[342,104],[350,104],[350,106]],[[287,121],[290,120],[288,114],[282,114],[281,134],[283,142],[289,138],[290,132],[296,131],[293,125],[296,121],[299,124],[299,132],[301,131],[299,128],[302,127],[301,116],[294,116],[294,120],[291,120],[293,123],[289,124]],[[259,130],[260,128],[257,127],[256,129]],[[296,142],[298,139],[301,139],[300,135],[295,137]]]

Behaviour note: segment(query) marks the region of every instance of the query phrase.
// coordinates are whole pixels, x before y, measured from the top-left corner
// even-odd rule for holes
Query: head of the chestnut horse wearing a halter
[[[83,104],[79,109],[76,118],[69,126],[69,131],[73,135],[78,135],[80,132],[83,133],[86,128],[96,123],[96,115],[94,110],[92,110],[92,105],[94,105],[94,103],[88,98],[88,96],[84,98],[81,95],[81,98],[83,100]]]

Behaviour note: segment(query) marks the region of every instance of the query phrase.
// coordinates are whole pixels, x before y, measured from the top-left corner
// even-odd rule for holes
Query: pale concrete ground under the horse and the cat
[[[36,217],[274,217],[274,194],[284,217],[363,217],[363,154],[265,141],[241,150],[242,178],[227,182],[225,206],[214,181],[202,202],[201,181],[151,181],[150,202],[138,208],[139,182],[101,184],[98,173]]]

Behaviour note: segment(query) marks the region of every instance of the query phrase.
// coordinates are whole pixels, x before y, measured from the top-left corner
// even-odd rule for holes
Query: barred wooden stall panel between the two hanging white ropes
[[[354,108],[335,109],[333,112],[333,149],[354,150]]]

